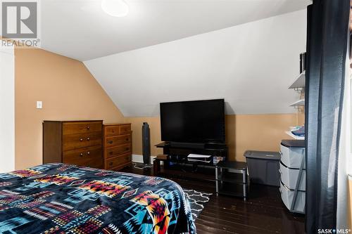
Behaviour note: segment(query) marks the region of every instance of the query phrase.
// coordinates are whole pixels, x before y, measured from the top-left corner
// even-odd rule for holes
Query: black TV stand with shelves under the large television
[[[208,144],[199,145],[188,144],[170,144],[159,143],[157,148],[163,148],[163,154],[168,155],[166,159],[154,161],[154,176],[158,174],[172,174],[172,176],[182,178],[193,178],[197,180],[206,180],[215,182],[215,166],[213,157],[223,157],[227,160],[226,144]],[[187,158],[189,154],[210,155],[210,162],[194,162]],[[163,171],[161,171],[161,161],[163,161]],[[208,160],[209,161],[209,160]]]

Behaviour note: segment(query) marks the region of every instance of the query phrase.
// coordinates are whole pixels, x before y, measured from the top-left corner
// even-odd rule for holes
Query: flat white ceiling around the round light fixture
[[[42,0],[42,48],[90,60],[306,8],[308,0],[125,0],[114,18],[101,0]],[[290,27],[290,25],[287,25]]]

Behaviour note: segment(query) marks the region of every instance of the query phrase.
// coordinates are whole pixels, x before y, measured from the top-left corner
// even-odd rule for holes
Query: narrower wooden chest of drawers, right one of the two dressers
[[[119,170],[132,164],[131,124],[104,124],[105,169]]]

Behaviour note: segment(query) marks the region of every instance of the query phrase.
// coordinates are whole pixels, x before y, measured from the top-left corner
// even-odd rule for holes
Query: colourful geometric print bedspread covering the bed
[[[165,178],[70,164],[0,174],[0,233],[196,233]]]

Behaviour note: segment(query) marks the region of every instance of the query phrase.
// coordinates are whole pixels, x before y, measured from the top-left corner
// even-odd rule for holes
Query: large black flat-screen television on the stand
[[[160,103],[161,140],[225,143],[225,101]]]

